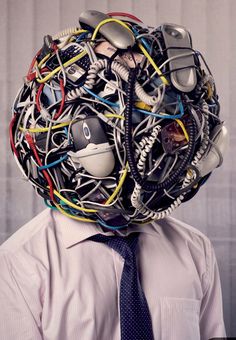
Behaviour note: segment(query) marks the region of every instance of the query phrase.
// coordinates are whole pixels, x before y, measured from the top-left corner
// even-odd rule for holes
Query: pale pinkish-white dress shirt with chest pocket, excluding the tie
[[[209,239],[174,218],[119,233],[133,231],[141,232],[137,263],[155,340],[224,337]],[[104,232],[46,209],[0,247],[1,340],[120,340],[124,260],[86,240],[97,233]]]

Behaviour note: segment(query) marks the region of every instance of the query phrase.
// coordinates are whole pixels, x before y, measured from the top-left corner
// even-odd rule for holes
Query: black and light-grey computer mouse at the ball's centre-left
[[[77,167],[83,167],[89,174],[106,177],[115,166],[113,147],[109,144],[98,117],[87,116],[71,127],[74,152],[68,155]]]

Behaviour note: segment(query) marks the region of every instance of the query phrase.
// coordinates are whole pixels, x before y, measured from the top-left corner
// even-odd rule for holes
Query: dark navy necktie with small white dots
[[[135,251],[139,233],[128,237],[94,235],[92,241],[105,243],[125,260],[120,282],[121,340],[153,340],[151,316],[142,290]]]

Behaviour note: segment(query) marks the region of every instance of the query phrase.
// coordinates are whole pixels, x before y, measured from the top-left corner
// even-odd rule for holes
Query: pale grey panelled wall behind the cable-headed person
[[[218,258],[225,323],[236,336],[236,1],[235,0],[0,0],[0,242],[44,208],[21,179],[10,152],[10,106],[22,77],[45,34],[77,25],[85,9],[126,11],[157,26],[185,25],[194,47],[206,57],[215,76],[221,114],[230,132],[230,148],[197,197],[174,214],[212,240]]]

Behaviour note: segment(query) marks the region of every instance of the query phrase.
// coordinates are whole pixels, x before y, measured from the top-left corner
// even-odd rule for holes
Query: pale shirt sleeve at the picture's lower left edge
[[[1,252],[0,339],[42,340],[40,329],[11,271],[8,259]]]

